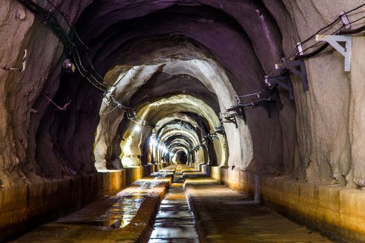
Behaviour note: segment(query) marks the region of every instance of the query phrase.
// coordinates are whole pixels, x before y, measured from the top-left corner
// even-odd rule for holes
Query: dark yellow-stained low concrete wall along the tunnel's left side
[[[0,242],[114,194],[147,176],[154,166],[105,171],[67,179],[40,179],[0,190]]]

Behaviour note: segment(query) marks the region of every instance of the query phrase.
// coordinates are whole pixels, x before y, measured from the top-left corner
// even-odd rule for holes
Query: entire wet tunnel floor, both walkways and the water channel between
[[[196,169],[172,165],[14,242],[330,241]]]

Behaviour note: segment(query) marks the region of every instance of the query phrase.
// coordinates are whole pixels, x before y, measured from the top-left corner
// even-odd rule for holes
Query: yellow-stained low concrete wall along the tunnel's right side
[[[211,176],[234,190],[253,195],[253,174],[213,167]],[[365,192],[337,185],[260,178],[261,199],[286,217],[342,242],[365,242]]]

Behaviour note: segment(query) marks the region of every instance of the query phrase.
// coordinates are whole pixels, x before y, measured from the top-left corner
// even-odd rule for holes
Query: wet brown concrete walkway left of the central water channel
[[[147,242],[172,171],[164,169],[138,180],[115,196],[35,228],[14,242]]]

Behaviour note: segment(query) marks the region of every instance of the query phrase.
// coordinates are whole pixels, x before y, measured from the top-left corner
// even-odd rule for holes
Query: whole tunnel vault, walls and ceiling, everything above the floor
[[[33,217],[79,208],[123,183],[118,175],[161,169],[185,153],[190,167],[211,169],[229,187],[250,193],[259,176],[263,198],[280,212],[356,241],[355,231],[364,228],[356,225],[365,188],[363,13],[361,0],[4,0],[0,191],[1,209],[9,212],[0,214],[12,215],[4,217],[6,227],[18,231]],[[352,40],[350,73],[331,44],[316,48],[316,34]],[[292,60],[303,60],[306,77],[275,67]],[[292,85],[275,90],[284,109],[273,102],[269,118],[261,106],[245,106],[238,130],[223,118],[221,137],[213,137],[212,117],[237,105],[236,95],[270,88],[266,75],[282,71]],[[211,108],[208,116],[198,112],[200,101]],[[175,122],[181,117],[190,128]],[[155,165],[146,157],[153,135],[163,137]],[[124,169],[127,153],[136,168]],[[307,203],[293,203],[293,195]],[[334,204],[354,209],[346,224],[346,208]],[[336,221],[320,217],[318,205],[329,206]]]

